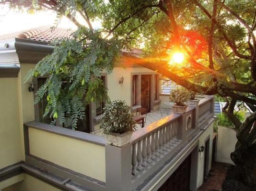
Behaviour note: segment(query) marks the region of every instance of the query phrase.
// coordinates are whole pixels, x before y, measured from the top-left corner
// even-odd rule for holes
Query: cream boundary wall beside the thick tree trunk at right
[[[234,165],[230,158],[237,142],[236,132],[233,128],[218,127],[216,161]]]

